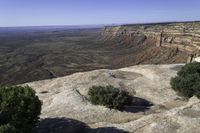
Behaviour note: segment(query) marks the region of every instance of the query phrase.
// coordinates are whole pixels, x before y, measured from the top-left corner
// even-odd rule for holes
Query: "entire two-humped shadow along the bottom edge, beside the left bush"
[[[42,119],[33,129],[33,133],[128,133],[115,127],[91,129],[87,124],[67,118]]]

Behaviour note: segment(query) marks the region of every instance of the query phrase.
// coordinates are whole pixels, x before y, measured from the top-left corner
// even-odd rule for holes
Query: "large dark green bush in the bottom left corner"
[[[31,132],[39,119],[41,104],[35,91],[28,86],[0,87],[0,129]]]

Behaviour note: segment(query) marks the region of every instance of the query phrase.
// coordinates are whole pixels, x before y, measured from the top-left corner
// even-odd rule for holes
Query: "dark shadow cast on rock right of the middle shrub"
[[[139,97],[133,97],[132,99],[132,103],[130,105],[126,105],[123,111],[131,113],[145,112],[153,106],[153,103],[145,99]]]

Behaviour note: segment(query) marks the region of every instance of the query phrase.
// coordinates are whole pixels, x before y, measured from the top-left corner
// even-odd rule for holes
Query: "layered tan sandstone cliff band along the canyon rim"
[[[141,35],[154,40],[158,47],[175,48],[191,56],[200,54],[200,22],[108,26],[102,31],[104,40]]]

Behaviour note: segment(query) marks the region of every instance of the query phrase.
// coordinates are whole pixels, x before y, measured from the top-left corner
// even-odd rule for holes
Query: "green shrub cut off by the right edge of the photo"
[[[170,81],[172,89],[179,95],[190,98],[200,98],[200,63],[186,64]]]

